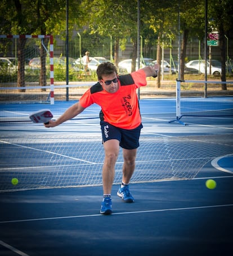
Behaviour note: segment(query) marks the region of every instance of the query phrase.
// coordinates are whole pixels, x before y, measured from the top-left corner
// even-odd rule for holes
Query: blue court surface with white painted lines
[[[0,105],[1,120],[22,118],[0,123],[0,255],[232,255],[232,97],[183,99],[187,125],[176,122],[175,99],[140,100],[135,202],[116,196],[119,155],[107,216],[99,108],[56,128],[24,122],[39,109],[57,118],[73,103]]]

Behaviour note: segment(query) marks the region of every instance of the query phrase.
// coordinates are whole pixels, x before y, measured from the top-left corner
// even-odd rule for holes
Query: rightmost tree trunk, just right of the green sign
[[[226,81],[226,40],[225,40],[225,31],[223,25],[219,25],[219,46],[221,53],[221,66],[222,66],[222,75],[221,81]],[[222,90],[227,90],[226,84],[222,84]]]

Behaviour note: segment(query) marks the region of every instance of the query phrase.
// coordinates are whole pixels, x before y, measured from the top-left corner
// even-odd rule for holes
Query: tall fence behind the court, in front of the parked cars
[[[1,87],[1,101],[14,101],[19,99],[24,99],[25,95],[34,94],[26,90],[24,93],[17,92],[17,76],[19,72],[17,70],[17,53],[18,53],[18,40],[16,38],[0,38],[1,45],[1,58],[0,58],[0,87]],[[182,38],[181,38],[182,40]],[[226,38],[227,40],[227,38]],[[157,57],[157,45],[158,41],[156,37],[150,39],[142,38],[140,41],[140,52],[141,52],[141,67],[152,65],[156,62]],[[55,92],[55,100],[57,99],[68,99],[79,98],[82,95],[84,88],[84,83],[88,81],[97,81],[96,69],[97,66],[106,60],[111,62],[116,62],[115,57],[117,53],[118,62],[115,63],[118,67],[120,74],[130,73],[132,71],[132,56],[133,51],[135,51],[135,45],[131,42],[130,38],[125,40],[120,40],[119,44],[115,43],[115,40],[111,37],[101,37],[97,35],[90,35],[85,33],[76,33],[70,38],[69,41],[69,72],[66,71],[66,40],[61,36],[54,36],[54,84],[65,85],[67,80],[69,85],[77,85],[77,89],[70,89],[70,95],[67,95],[68,90],[57,89]],[[233,49],[232,42],[227,41],[227,81],[232,78],[232,63],[231,63],[231,51]],[[32,88],[33,86],[39,85],[39,74],[41,72],[40,68],[40,49],[43,46],[43,41],[39,38],[30,38],[26,41],[24,47],[24,57],[25,57],[25,86]],[[49,49],[49,45],[47,46]],[[86,51],[89,51],[91,62],[89,63],[89,73],[84,71],[82,57]],[[219,46],[209,46],[209,53],[211,53],[212,62],[208,62],[208,79],[209,80],[219,80],[221,75],[221,52]],[[46,75],[47,75],[47,85],[50,84],[50,60],[49,51],[47,51],[48,57],[46,60]],[[185,57],[185,79],[186,80],[204,80],[204,41],[200,40],[189,40],[187,42],[187,50]],[[138,66],[136,62],[136,67]],[[175,97],[176,96],[176,79],[178,74],[178,39],[171,40],[171,38],[164,38],[162,44],[162,66],[160,68],[161,81],[160,86],[158,86],[155,79],[148,79],[148,86],[140,89],[141,97]],[[69,73],[69,77],[67,77]],[[68,79],[67,79],[68,78]],[[19,79],[19,77],[18,77]],[[82,82],[82,83],[81,83]],[[80,84],[81,83],[81,84]],[[80,87],[81,85],[81,87]],[[232,86],[228,85],[226,88],[226,94],[231,95]],[[12,90],[11,90],[12,89]],[[36,89],[36,88],[35,88]],[[78,93],[77,93],[78,90]],[[203,86],[200,85],[199,88],[189,85],[189,88],[185,88],[188,92],[193,92],[193,90],[200,92],[203,95]],[[221,86],[214,86],[211,88],[212,91],[216,91],[216,95],[219,95],[219,91],[222,90]],[[45,90],[40,90],[37,88],[37,94],[43,93],[43,99],[46,100],[48,93]],[[17,93],[16,93],[17,92]],[[17,94],[17,95],[16,95]],[[223,93],[224,94],[224,93]],[[193,95],[193,94],[192,94]],[[222,95],[222,92],[221,92]],[[11,96],[11,97],[8,97]],[[16,97],[17,96],[17,97]],[[30,99],[32,96],[29,97]]]

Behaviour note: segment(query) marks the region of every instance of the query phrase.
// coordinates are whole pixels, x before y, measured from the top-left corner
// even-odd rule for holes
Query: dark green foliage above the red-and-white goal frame
[[[69,0],[70,28],[81,16],[80,2]],[[1,34],[60,34],[66,27],[64,0],[2,0]]]

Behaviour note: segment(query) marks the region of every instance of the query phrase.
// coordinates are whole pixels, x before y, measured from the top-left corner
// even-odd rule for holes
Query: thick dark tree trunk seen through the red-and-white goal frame
[[[17,52],[18,57],[18,71],[17,71],[17,86],[25,88],[25,73],[24,73],[24,47],[26,38],[19,38],[19,47]],[[19,89],[20,92],[25,92],[25,89]]]

